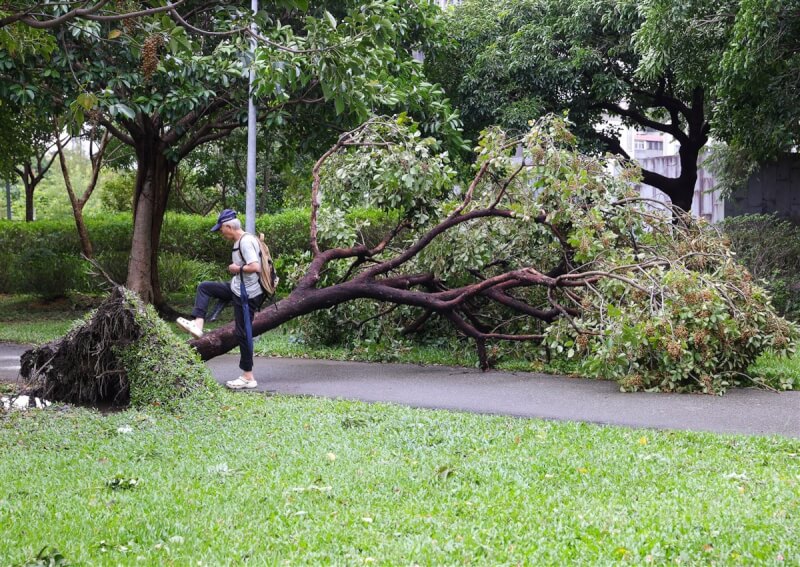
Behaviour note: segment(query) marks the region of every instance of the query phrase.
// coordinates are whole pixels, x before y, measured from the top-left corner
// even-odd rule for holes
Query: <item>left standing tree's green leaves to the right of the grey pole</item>
[[[320,10],[306,16],[302,28],[263,29],[271,43],[259,44],[256,54],[261,104],[281,104],[313,87],[340,123],[406,111],[422,119],[426,132],[461,144],[458,114],[411,57],[417,36],[435,33],[435,10],[376,1],[336,16]]]

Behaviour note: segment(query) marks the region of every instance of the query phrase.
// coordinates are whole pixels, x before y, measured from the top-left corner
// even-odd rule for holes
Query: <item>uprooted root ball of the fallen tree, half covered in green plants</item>
[[[21,374],[35,396],[116,407],[170,408],[213,385],[197,353],[123,287],[64,337],[23,354]]]

